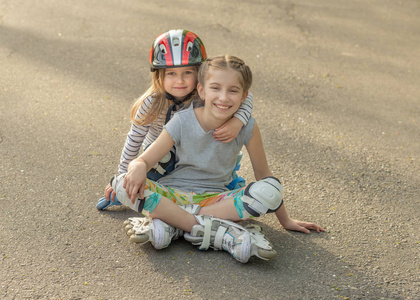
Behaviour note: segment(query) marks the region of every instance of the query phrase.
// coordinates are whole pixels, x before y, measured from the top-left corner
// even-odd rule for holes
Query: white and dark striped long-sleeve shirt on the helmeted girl
[[[146,116],[152,106],[154,98],[152,96],[146,98],[142,105],[140,105],[137,114],[136,120],[142,119]],[[238,111],[234,114],[234,117],[241,120],[244,125],[248,123],[248,120],[251,117],[253,106],[253,96],[251,92],[248,93],[245,101],[241,104]],[[174,112],[172,112],[174,114]],[[138,126],[136,124],[131,124],[130,131],[127,134],[125,140],[124,148],[121,153],[120,164],[118,166],[118,172],[120,174],[127,173],[128,164],[137,158],[140,152],[140,148],[143,145],[143,149],[146,149],[151,143],[153,143],[159,134],[163,130],[164,122],[166,118],[166,111],[162,111],[160,115],[151,123],[146,125]]]

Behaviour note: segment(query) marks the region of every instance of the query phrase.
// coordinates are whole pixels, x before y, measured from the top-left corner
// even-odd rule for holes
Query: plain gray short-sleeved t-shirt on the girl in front
[[[175,141],[175,169],[159,179],[159,183],[197,194],[227,191],[236,159],[242,147],[248,145],[254,123],[251,117],[232,142],[222,143],[214,140],[214,131],[204,131],[192,105],[177,112],[165,125]]]

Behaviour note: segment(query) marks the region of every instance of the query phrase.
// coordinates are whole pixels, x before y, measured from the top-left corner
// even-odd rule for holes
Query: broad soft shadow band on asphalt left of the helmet
[[[51,37],[0,24],[0,46],[7,49],[8,59],[21,56],[35,66],[130,102],[149,84],[148,66],[140,64],[147,61],[147,53],[134,52],[136,49],[128,43]]]

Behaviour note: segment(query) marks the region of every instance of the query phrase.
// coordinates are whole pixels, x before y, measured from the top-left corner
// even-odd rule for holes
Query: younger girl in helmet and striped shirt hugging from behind
[[[159,35],[150,49],[149,62],[152,85],[133,104],[131,108],[131,129],[127,134],[121,153],[118,172],[127,173],[128,164],[137,158],[140,148],[147,149],[159,136],[163,126],[171,119],[174,112],[189,107],[197,99],[197,72],[207,59],[206,49],[201,39],[188,30],[169,30]],[[232,141],[241,128],[247,124],[252,112],[252,94],[241,105],[234,117],[215,130],[215,140]],[[148,178],[158,180],[173,170],[175,165],[174,149],[148,173]],[[240,157],[239,157],[240,160]],[[238,163],[239,166],[239,163]],[[235,171],[238,167],[235,169]],[[243,186],[244,180],[232,173],[230,188]],[[112,195],[111,195],[112,194]],[[103,198],[96,207],[99,210],[113,205],[112,187],[108,184]]]

